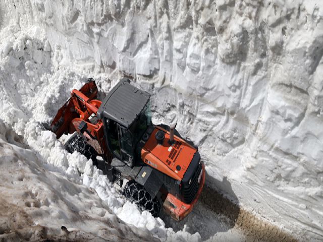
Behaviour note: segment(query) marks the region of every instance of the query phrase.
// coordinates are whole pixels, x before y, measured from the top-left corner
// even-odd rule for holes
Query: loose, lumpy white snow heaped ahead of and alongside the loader
[[[68,65],[60,65],[64,63],[60,49],[49,45],[43,30],[37,27],[22,30],[19,25],[14,24],[4,28],[0,36],[0,120],[4,120],[7,127],[12,127],[23,137],[25,143],[36,151],[33,153],[33,159],[39,161],[40,167],[60,177],[59,181],[62,184],[57,185],[57,191],[69,192],[66,183],[76,188],[85,185],[94,189],[107,205],[95,208],[99,215],[103,215],[107,209],[111,210],[126,223],[134,225],[136,231],[144,234],[147,239],[147,234],[153,234],[164,241],[199,241],[198,233],[175,233],[172,228],[165,228],[165,223],[160,218],[154,218],[148,212],[141,212],[136,205],[127,202],[102,171],[93,166],[92,160],[87,160],[78,152],[68,153],[55,134],[44,129],[41,123],[49,123],[59,107],[69,98],[69,91],[82,86],[87,78],[73,72]],[[107,82],[108,76],[97,75],[96,79],[98,86],[110,87],[110,82]],[[25,151],[20,152],[23,154]],[[33,159],[28,156],[28,162],[33,162]],[[81,212],[89,203],[89,199],[94,203],[100,203],[95,202],[100,201],[98,197],[88,197],[83,190],[84,188],[79,190],[80,201],[61,208],[61,213],[73,207]],[[86,191],[88,193],[89,190]],[[47,214],[27,213],[33,219],[38,218],[40,225],[51,227],[56,226],[57,220],[62,219],[60,211],[57,211],[55,216],[50,215],[52,219],[45,219],[45,216],[49,216]],[[80,222],[82,220],[81,217],[75,219],[79,219]],[[116,221],[113,220],[115,225],[119,226]],[[74,224],[79,226],[77,222]],[[125,229],[121,225],[120,227]],[[84,226],[78,228],[85,229]],[[53,233],[56,232],[58,231]]]

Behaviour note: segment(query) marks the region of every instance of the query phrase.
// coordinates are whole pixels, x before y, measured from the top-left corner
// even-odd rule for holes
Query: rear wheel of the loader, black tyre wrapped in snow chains
[[[147,210],[154,217],[159,215],[160,203],[158,199],[156,197],[152,199],[147,190],[135,181],[128,181],[124,190],[124,195],[131,202],[134,202],[141,211]]]

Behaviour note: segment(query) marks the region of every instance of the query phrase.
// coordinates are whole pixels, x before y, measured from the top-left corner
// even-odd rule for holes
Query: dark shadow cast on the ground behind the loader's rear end
[[[220,191],[211,188],[211,184],[221,189],[225,188],[231,200]],[[205,185],[193,211],[180,222],[170,218],[164,211],[160,213],[160,218],[164,220],[166,227],[172,227],[175,232],[183,229],[192,234],[198,232],[205,240],[218,232],[226,232],[233,228],[239,213],[239,200],[227,178],[224,177],[220,181],[206,172]]]

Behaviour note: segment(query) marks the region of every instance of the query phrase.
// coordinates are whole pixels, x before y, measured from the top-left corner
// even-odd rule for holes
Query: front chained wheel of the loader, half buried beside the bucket
[[[75,133],[66,143],[65,148],[69,153],[77,151],[84,155],[87,159],[92,159],[93,164],[96,162],[97,153],[90,146],[83,135]]]

